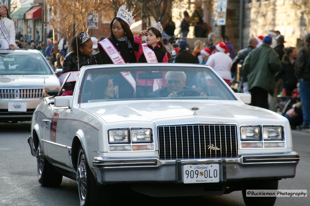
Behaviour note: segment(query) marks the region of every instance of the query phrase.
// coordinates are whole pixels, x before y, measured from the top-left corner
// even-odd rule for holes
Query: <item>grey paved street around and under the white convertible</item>
[[[64,178],[60,187],[47,188],[38,183],[36,159],[27,144],[30,123],[0,124],[0,205],[79,205],[76,182]],[[301,157],[294,179],[279,182],[279,189],[310,187],[310,133],[293,131],[294,150]],[[124,191],[116,191],[116,195]],[[309,195],[308,195],[309,196]],[[114,205],[244,205],[241,191],[209,197],[153,198],[130,193]],[[278,197],[275,205],[309,205],[309,197]],[[130,202],[129,202],[129,201]]]

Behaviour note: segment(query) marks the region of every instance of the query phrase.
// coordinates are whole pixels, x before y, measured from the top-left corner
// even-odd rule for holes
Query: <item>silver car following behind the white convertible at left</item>
[[[44,97],[57,94],[59,80],[37,50],[0,50],[0,122],[30,121]]]

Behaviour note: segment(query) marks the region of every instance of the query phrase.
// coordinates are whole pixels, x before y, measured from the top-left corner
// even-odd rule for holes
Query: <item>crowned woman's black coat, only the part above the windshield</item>
[[[126,61],[126,63],[137,63],[134,49],[128,48],[128,44],[126,41],[117,41],[117,39],[112,38],[111,36],[108,39],[112,42],[112,44],[115,46],[115,48],[120,53],[120,55],[123,57],[123,59]],[[102,64],[113,64],[110,57],[107,55],[107,53],[105,53],[105,51],[103,50],[103,48],[101,47],[99,43],[98,43],[98,48],[99,48]]]

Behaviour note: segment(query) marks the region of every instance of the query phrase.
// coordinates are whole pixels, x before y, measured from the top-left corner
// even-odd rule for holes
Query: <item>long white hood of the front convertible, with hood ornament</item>
[[[132,103],[113,103],[95,106],[95,103],[88,105],[86,109],[96,113],[105,122],[120,121],[154,121],[158,119],[179,119],[181,121],[193,121],[195,118],[203,121],[225,121],[225,122],[247,122],[255,120],[257,123],[262,120],[278,121],[281,116],[274,112],[245,105],[237,101],[197,102],[197,101],[153,101]],[[234,102],[234,103],[232,103]],[[100,103],[98,103],[100,104]],[[199,110],[193,111],[191,108]]]

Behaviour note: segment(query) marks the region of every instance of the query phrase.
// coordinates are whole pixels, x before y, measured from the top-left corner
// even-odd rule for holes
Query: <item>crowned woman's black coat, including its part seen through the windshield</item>
[[[133,48],[128,48],[128,44],[126,41],[117,41],[115,38],[109,37],[108,38],[112,44],[115,46],[117,51],[120,53],[120,55],[123,57],[124,61],[126,63],[137,63],[137,60],[135,58],[135,53]],[[134,44],[132,44],[134,47]],[[98,44],[100,57],[101,57],[101,63],[102,64],[113,64],[110,57],[105,53],[104,49],[101,47],[100,44]],[[135,78],[135,74],[131,73],[133,77]],[[119,91],[119,99],[129,99],[133,98],[134,96],[134,90],[130,83],[122,76],[122,74],[114,74],[111,75],[113,78],[113,84],[115,86],[118,86]]]

